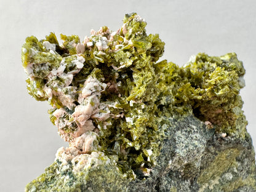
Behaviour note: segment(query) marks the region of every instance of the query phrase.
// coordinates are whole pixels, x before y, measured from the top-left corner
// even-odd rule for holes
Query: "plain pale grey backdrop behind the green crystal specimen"
[[[0,191],[23,191],[44,172],[60,146],[68,146],[49,121],[46,102],[26,92],[20,49],[25,38],[59,37],[107,25],[117,30],[124,14],[146,19],[147,33],[166,42],[167,59],[178,65],[190,55],[236,52],[246,68],[241,90],[247,130],[256,143],[256,1],[2,1],[0,0]],[[254,145],[255,146],[255,145]]]

